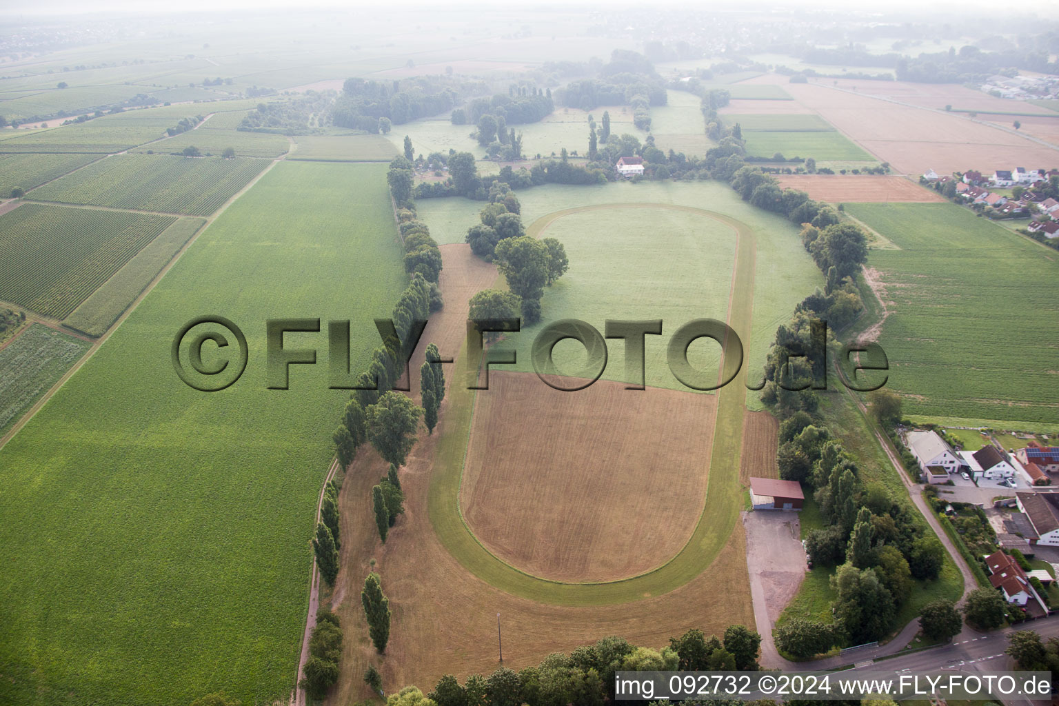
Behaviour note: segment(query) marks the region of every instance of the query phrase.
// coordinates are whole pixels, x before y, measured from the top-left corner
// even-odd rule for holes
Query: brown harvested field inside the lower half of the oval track
[[[702,513],[716,406],[715,395],[605,380],[570,393],[493,373],[475,399],[464,518],[534,576],[643,574],[680,551]]]

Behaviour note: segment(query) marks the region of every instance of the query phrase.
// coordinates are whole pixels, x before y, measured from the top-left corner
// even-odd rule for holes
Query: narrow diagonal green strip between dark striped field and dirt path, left
[[[92,292],[62,324],[89,336],[103,336],[204,224],[205,220],[202,218],[181,218],[162,231],[125,267]]]

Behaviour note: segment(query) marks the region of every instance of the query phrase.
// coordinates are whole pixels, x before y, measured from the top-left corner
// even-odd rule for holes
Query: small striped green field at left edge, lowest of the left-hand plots
[[[58,382],[91,346],[33,324],[0,349],[0,436]]]

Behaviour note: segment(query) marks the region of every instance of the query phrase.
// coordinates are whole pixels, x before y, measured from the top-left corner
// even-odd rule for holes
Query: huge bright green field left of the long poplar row
[[[266,390],[265,322],[351,320],[360,367],[400,257],[385,165],[277,164],[0,449],[0,702],[289,696],[348,393],[327,388],[326,332],[288,334],[320,363]],[[205,314],[249,343],[243,378],[212,394],[169,359]]]

